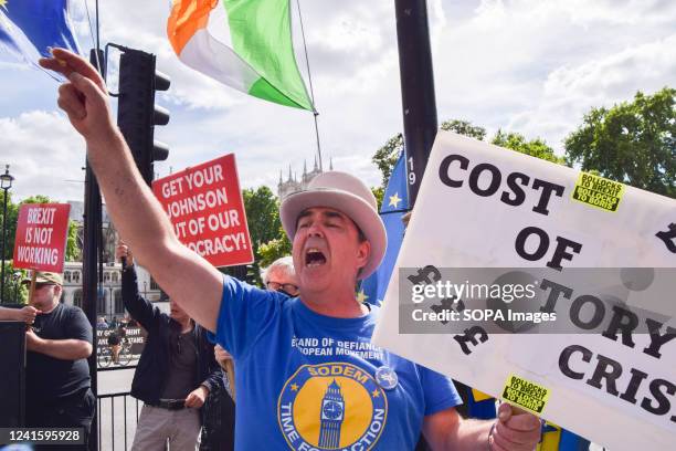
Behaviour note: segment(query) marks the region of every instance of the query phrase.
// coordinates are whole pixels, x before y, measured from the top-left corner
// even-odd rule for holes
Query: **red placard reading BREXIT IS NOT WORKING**
[[[70,211],[71,206],[67,203],[21,206],[17,221],[13,266],[63,272]]]

